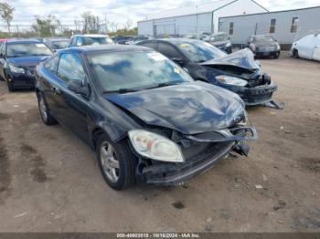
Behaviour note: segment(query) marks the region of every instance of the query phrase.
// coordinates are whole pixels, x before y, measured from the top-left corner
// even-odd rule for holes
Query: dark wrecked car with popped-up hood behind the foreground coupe
[[[271,102],[277,90],[249,49],[227,55],[207,42],[183,38],[149,40],[137,45],[154,48],[186,68],[194,79],[237,93],[246,105]]]

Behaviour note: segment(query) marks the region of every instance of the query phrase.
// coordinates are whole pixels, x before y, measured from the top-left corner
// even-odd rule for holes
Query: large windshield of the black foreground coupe
[[[153,51],[101,53],[89,57],[89,62],[106,93],[193,81],[182,68]]]

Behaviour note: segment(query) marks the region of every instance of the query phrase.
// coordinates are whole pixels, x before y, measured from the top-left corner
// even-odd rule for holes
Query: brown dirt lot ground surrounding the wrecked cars
[[[32,91],[0,82],[0,232],[320,232],[320,64],[261,64],[285,109],[248,109],[260,134],[249,158],[184,186],[124,192],[82,141],[41,122]]]

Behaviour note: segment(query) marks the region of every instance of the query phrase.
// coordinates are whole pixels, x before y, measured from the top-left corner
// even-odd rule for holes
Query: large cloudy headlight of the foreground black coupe
[[[146,130],[130,130],[129,139],[134,150],[155,161],[185,161],[180,148],[172,140]]]

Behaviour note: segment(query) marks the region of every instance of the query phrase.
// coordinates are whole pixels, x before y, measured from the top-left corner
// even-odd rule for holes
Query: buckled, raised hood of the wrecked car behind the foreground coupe
[[[218,59],[208,60],[200,63],[202,66],[212,65],[231,65],[240,68],[246,68],[250,70],[260,69],[259,63],[254,59],[254,55],[250,49],[245,48],[240,51],[236,51],[226,57],[220,57]]]

